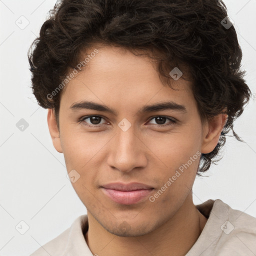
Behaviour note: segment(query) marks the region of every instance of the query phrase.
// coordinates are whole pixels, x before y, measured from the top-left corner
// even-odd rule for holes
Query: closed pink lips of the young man
[[[119,204],[134,204],[148,196],[153,187],[138,183],[131,182],[128,184],[124,183],[109,183],[101,186],[102,191],[114,202]]]

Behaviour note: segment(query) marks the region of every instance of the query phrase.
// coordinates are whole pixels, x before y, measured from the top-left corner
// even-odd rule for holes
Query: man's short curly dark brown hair
[[[57,1],[28,50],[33,94],[40,106],[53,108],[59,128],[63,89],[50,98],[47,95],[53,95],[71,69],[78,69],[81,53],[95,43],[145,51],[148,56],[153,52],[150,57],[158,61],[159,77],[170,87],[169,71],[174,67],[185,71],[186,66],[181,78],[187,75],[193,81],[201,120],[228,115],[214,150],[201,155],[197,170],[201,176],[218,160],[230,129],[241,141],[233,121],[251,95],[243,79],[245,71],[240,69],[242,52],[236,31],[226,18],[221,0]]]

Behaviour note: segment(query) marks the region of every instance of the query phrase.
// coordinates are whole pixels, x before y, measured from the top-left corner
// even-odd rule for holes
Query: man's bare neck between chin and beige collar
[[[199,237],[207,218],[192,202],[191,193],[177,212],[163,225],[141,236],[117,236],[105,230],[87,212],[88,231],[85,240],[95,255],[185,255]],[[170,253],[171,252],[171,253]]]

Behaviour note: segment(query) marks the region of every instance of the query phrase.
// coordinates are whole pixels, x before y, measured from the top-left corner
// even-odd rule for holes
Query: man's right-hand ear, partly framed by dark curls
[[[227,114],[211,117],[203,128],[201,152],[210,153],[218,143],[220,133],[225,125]]]

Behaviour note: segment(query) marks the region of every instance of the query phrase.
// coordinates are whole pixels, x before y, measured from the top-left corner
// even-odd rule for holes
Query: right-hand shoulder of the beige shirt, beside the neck
[[[186,256],[256,255],[255,217],[220,199],[209,199],[196,207],[208,220]]]

